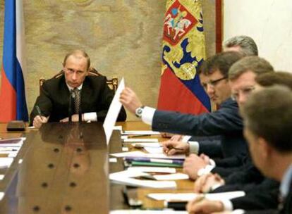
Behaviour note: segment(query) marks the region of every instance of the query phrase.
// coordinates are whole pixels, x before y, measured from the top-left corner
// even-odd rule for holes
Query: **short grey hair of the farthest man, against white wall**
[[[248,36],[236,36],[231,37],[230,39],[226,39],[226,41],[223,42],[224,48],[231,48],[233,46],[240,46],[241,52],[245,56],[258,56],[258,49],[257,44],[255,44],[255,41]]]

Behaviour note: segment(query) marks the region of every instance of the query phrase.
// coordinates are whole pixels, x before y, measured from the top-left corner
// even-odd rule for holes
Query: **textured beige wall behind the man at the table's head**
[[[215,46],[214,2],[203,1],[208,56]],[[142,103],[156,106],[165,4],[162,0],[23,0],[29,111],[39,94],[39,78],[61,70],[63,56],[72,49],[85,49],[100,73],[125,77]],[[0,12],[2,56],[4,1]]]

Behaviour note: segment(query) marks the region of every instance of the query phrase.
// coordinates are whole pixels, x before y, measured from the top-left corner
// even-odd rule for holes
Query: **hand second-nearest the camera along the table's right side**
[[[207,193],[214,185],[222,186],[225,181],[218,174],[209,173],[202,175],[195,181],[194,191],[197,193]]]

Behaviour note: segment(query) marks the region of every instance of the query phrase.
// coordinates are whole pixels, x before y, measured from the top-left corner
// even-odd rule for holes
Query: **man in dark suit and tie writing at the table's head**
[[[30,125],[40,127],[46,122],[103,121],[114,91],[107,85],[107,77],[88,75],[90,58],[82,50],[66,54],[63,75],[46,80],[30,114]],[[76,94],[77,93],[77,94]],[[78,103],[74,98],[78,96]],[[76,103],[76,104],[75,104]],[[122,107],[118,121],[126,120]]]

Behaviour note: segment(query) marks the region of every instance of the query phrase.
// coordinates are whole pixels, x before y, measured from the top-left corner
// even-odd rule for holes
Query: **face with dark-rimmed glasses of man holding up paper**
[[[227,77],[215,70],[211,75],[200,75],[200,82],[207,92],[209,98],[216,104],[220,105],[231,95]]]

